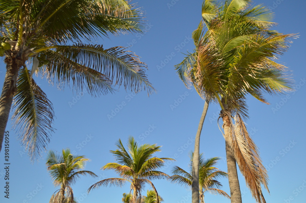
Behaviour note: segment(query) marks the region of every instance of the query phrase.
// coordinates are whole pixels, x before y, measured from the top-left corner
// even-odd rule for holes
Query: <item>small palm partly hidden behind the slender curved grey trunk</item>
[[[170,181],[173,183],[178,183],[182,186],[192,187],[192,170],[193,170],[193,153],[190,153],[190,164],[189,164],[189,172],[186,172],[184,169],[181,169],[178,166],[174,166],[172,169],[173,176],[170,176]],[[217,180],[221,177],[227,177],[227,173],[219,170],[215,167],[218,160],[221,158],[213,157],[207,158],[206,160],[203,158],[203,154],[199,156],[199,199],[201,203],[204,203],[204,193],[210,192],[211,194],[220,194],[226,198],[230,198],[230,196],[220,190],[222,184]]]

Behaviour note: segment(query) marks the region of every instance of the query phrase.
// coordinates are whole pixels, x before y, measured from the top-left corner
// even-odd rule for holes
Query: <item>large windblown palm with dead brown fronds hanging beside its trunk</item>
[[[267,171],[242,120],[248,117],[246,94],[267,103],[264,93],[291,89],[286,67],[274,60],[288,49],[293,35],[269,30],[274,24],[270,10],[250,8],[249,2],[232,0],[219,7],[214,1],[203,2],[203,22],[193,33],[195,52],[177,66],[179,75],[188,78],[185,84],[195,85],[201,96],[222,109],[232,202],[241,202],[236,161],[256,201],[265,202],[261,184],[268,190]]]

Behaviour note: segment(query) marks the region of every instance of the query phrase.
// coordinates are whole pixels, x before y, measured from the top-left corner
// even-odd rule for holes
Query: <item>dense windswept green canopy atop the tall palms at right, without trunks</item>
[[[292,86],[286,67],[274,60],[288,49],[293,34],[269,30],[275,24],[271,11],[262,5],[250,8],[249,2],[232,0],[218,7],[215,1],[204,1],[203,21],[192,34],[196,49],[176,65],[185,85],[193,84],[204,98],[246,117],[246,93],[267,103],[264,93],[282,93]]]

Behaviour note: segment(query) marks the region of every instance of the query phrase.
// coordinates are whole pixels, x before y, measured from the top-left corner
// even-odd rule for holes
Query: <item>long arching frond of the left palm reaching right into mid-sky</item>
[[[77,44],[73,46],[57,46],[56,52],[64,57],[59,61],[62,63],[52,63],[53,77],[66,77],[65,75],[55,75],[54,71],[59,72],[56,70],[59,69],[61,71],[68,64],[73,66],[74,64],[70,63],[70,61],[73,61],[76,65],[80,64],[76,68],[89,67],[98,71],[105,75],[108,81],[112,81],[113,85],[123,85],[125,89],[131,89],[135,92],[139,92],[142,89],[147,90],[148,94],[154,91],[144,72],[144,69],[147,68],[146,64],[142,63],[138,56],[131,51],[125,51],[124,47],[103,49],[103,46],[100,45]],[[65,78],[57,79],[62,82]],[[92,86],[92,84],[90,85]]]

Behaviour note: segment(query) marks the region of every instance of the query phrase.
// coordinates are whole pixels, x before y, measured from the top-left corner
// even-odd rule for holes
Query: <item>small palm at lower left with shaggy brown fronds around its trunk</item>
[[[47,155],[47,170],[53,179],[54,186],[60,186],[58,192],[55,192],[50,203],[74,203],[73,190],[71,185],[82,175],[97,177],[91,171],[84,171],[88,158],[80,155],[73,155],[70,149],[62,150],[62,154],[57,154],[50,150]]]

